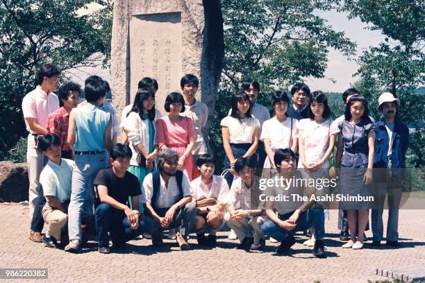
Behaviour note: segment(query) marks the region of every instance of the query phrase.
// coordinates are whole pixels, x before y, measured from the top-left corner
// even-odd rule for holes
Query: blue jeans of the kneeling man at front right
[[[292,212],[288,214],[279,214],[279,219],[281,221],[288,220]],[[297,225],[294,229],[288,231],[285,228],[281,228],[281,226],[277,225],[270,219],[267,220],[263,225],[261,225],[261,229],[267,237],[272,237],[278,241],[283,241],[288,234],[294,235],[298,231],[304,231],[311,227],[315,228],[315,238],[317,240],[321,240],[324,237],[324,210],[323,209],[308,209],[305,212],[301,212]]]

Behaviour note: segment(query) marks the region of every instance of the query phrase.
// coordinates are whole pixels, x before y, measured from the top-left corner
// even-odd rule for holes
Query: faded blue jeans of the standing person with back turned
[[[76,155],[72,171],[71,201],[68,207],[69,240],[81,240],[81,214],[93,205],[93,180],[101,169],[108,167],[108,152]],[[84,207],[84,208],[83,208]]]

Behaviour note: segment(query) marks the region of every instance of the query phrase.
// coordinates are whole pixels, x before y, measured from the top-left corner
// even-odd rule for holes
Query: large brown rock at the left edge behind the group
[[[28,166],[26,163],[0,162],[0,202],[28,200]]]

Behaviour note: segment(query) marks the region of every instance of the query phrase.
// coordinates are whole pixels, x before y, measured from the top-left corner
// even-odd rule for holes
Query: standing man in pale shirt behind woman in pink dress
[[[195,128],[195,146],[192,151],[192,159],[194,164],[197,163],[199,156],[208,153],[206,145],[206,126],[208,121],[208,106],[195,99],[195,94],[198,91],[199,80],[197,76],[187,74],[180,80],[183,98],[185,98],[185,112],[183,115],[192,119]],[[192,172],[193,178],[199,177],[199,171],[196,166]]]

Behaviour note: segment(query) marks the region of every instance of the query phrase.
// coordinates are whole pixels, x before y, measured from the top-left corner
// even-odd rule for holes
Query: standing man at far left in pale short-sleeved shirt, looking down
[[[29,206],[30,218],[41,219],[41,207],[35,211],[35,203],[37,202],[40,192],[40,173],[43,169],[46,159],[42,151],[37,149],[38,137],[47,134],[47,121],[49,114],[55,112],[59,108],[59,99],[53,90],[58,86],[58,76],[60,69],[53,64],[43,65],[38,71],[36,83],[37,87],[32,92],[28,92],[22,100],[22,113],[26,130],[28,130],[28,145],[26,150],[26,162],[28,162],[28,179],[29,179]],[[40,222],[33,219],[33,223]],[[41,242],[40,225],[31,225],[29,238],[31,241]]]

